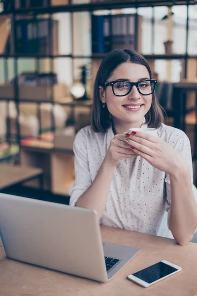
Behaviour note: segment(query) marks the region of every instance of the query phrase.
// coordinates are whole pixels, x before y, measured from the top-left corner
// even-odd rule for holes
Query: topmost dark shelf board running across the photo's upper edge
[[[54,5],[50,7],[33,7],[33,8],[20,8],[13,9],[9,12],[1,12],[0,14],[35,14],[35,13],[57,13],[57,12],[80,12],[91,11],[99,9],[116,9],[124,7],[146,7],[146,6],[163,6],[163,5],[187,5],[197,4],[195,0],[122,0],[122,1],[104,1],[84,4],[71,4],[71,5]]]

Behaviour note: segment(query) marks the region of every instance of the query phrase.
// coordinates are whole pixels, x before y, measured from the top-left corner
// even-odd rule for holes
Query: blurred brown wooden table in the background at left
[[[43,171],[39,168],[21,165],[0,164],[0,189],[39,178],[42,187]]]

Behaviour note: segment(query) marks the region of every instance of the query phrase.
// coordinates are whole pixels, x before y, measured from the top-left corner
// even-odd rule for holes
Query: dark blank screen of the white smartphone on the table
[[[150,284],[176,270],[176,268],[168,264],[165,264],[164,262],[158,262],[154,265],[148,266],[140,271],[137,271],[132,275]]]

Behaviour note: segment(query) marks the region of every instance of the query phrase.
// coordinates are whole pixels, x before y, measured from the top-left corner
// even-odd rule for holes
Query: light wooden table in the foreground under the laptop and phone
[[[140,252],[108,283],[68,275],[5,257],[0,242],[0,296],[194,296],[197,292],[197,244],[101,226],[102,239],[140,248]],[[127,275],[162,259],[182,271],[149,288]]]

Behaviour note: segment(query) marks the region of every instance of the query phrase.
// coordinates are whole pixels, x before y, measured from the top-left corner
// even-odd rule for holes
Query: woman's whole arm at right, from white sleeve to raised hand
[[[188,243],[197,227],[197,205],[192,190],[192,156],[188,137],[183,134],[171,147],[162,139],[137,132],[129,144],[134,151],[157,169],[167,173],[171,207],[168,224],[180,245]],[[179,151],[179,152],[178,152]],[[191,173],[191,177],[190,177]],[[167,179],[166,178],[166,179]]]

